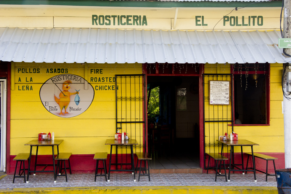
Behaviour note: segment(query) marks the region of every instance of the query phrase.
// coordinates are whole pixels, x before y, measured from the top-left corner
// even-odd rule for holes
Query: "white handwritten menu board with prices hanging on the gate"
[[[209,104],[229,105],[229,81],[209,82]]]

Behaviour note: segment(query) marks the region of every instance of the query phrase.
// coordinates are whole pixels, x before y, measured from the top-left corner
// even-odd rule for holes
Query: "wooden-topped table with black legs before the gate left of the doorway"
[[[133,159],[133,145],[138,145],[137,141],[135,139],[129,139],[129,140],[115,140],[115,139],[107,139],[105,142],[105,145],[110,145],[110,159],[109,159],[109,170],[108,170],[108,182],[110,181],[110,172],[111,171],[129,171],[132,172],[133,174],[133,181],[136,181],[135,179],[135,170],[134,170],[134,159]],[[111,156],[112,156],[112,147],[113,146],[122,146],[122,145],[129,145],[130,146],[130,152],[131,152],[131,163],[118,163],[117,162],[117,157],[116,157],[116,163],[111,163]],[[116,149],[117,150],[117,149]],[[116,156],[117,156],[117,152],[116,152]],[[111,170],[111,164],[113,165],[131,165],[132,169],[116,169],[116,170]]]

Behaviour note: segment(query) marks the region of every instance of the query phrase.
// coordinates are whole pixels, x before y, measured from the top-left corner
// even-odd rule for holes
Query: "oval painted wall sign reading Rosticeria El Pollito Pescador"
[[[89,108],[94,99],[94,88],[78,75],[61,74],[48,79],[41,86],[39,96],[47,111],[70,118]]]

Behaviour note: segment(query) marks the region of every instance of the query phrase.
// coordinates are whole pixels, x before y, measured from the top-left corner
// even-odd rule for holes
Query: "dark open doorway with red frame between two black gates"
[[[200,168],[199,76],[147,76],[150,168]]]

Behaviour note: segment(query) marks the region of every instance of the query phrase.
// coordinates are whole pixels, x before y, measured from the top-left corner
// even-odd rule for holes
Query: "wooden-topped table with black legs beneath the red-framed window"
[[[249,140],[244,140],[244,139],[241,139],[241,140],[217,140],[219,141],[220,143],[222,143],[222,146],[221,146],[221,154],[222,154],[222,151],[223,151],[223,145],[230,145],[230,159],[229,159],[229,168],[228,168],[228,181],[230,181],[230,171],[242,171],[244,174],[245,171],[251,171],[254,173],[254,176],[255,176],[255,159],[254,159],[254,153],[253,153],[253,145],[259,145],[257,143],[253,143]],[[242,153],[242,164],[234,164],[234,158],[233,158],[233,161],[231,160],[231,157],[233,156],[233,147],[234,146],[240,146],[241,147],[241,153]],[[253,170],[244,170],[244,158],[243,158],[243,152],[242,152],[242,147],[243,146],[250,146],[251,149],[252,149],[252,158],[253,158],[253,167],[254,169]],[[233,163],[232,163],[233,162]],[[242,166],[242,169],[241,168],[238,168],[237,165],[241,165]],[[233,169],[231,169],[231,166],[233,166]],[[235,169],[237,168],[237,169]],[[257,182],[257,178],[255,176],[255,182]]]

